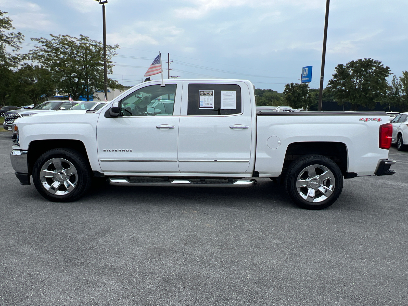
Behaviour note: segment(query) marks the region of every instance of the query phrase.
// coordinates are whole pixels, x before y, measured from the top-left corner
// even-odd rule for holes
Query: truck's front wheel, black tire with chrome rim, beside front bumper
[[[58,164],[58,162],[50,164],[49,162],[51,160],[60,160],[59,164],[62,167],[62,170],[58,171],[58,169],[56,169],[57,167],[54,166],[54,164]],[[48,168],[47,165],[49,165]],[[74,166],[73,169],[75,170],[75,174],[72,175],[70,175],[71,172],[69,171],[69,169],[72,169],[71,166]],[[50,176],[46,178],[44,177],[44,174],[41,173],[42,168],[43,170],[46,168],[44,171],[49,173],[50,176],[52,175],[52,171],[60,172],[62,175],[55,173],[54,178],[51,178]],[[53,168],[55,169],[53,170]],[[64,171],[67,171],[65,175]],[[88,191],[91,186],[91,173],[92,171],[88,160],[86,160],[86,158],[78,151],[66,148],[52,149],[38,157],[35,162],[33,167],[33,182],[37,191],[47,200],[53,202],[72,202],[78,200],[84,195],[84,193],[86,193],[86,191]],[[54,190],[51,182],[55,183],[57,180],[61,180],[61,186],[58,185],[56,190]],[[70,183],[68,183],[68,180]],[[69,188],[72,188],[71,191],[69,188],[65,187],[66,182]],[[58,184],[58,182],[56,184]],[[49,189],[47,189],[47,186],[49,186]],[[54,192],[50,192],[49,190]]]

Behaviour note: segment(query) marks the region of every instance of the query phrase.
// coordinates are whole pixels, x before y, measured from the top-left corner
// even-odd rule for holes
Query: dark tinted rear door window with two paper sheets
[[[187,115],[242,113],[241,87],[237,84],[188,84]]]

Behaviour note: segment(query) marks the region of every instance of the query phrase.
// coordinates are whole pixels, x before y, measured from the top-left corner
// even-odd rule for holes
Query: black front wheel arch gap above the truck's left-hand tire
[[[47,152],[51,149],[58,148],[69,148],[74,149],[80,152],[86,158],[89,164],[88,153],[86,152],[85,145],[80,140],[75,139],[47,139],[47,140],[33,140],[28,146],[27,154],[27,163],[28,171],[31,175],[33,173],[33,166],[35,161],[42,155],[44,152]]]

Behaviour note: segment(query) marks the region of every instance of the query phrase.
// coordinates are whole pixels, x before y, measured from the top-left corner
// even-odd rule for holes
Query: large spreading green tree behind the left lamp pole
[[[30,51],[31,59],[40,63],[52,73],[57,91],[65,96],[71,95],[74,100],[80,96],[93,97],[95,91],[104,89],[103,44],[97,40],[80,35],[80,38],[69,35],[51,35],[51,39],[31,38],[42,44]],[[119,46],[107,46],[108,73],[113,64],[111,58]],[[122,89],[117,81],[108,79],[112,89]]]

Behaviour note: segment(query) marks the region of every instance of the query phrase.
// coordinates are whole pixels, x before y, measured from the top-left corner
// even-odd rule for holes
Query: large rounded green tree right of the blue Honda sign
[[[386,95],[386,78],[390,72],[390,67],[384,67],[380,61],[372,58],[338,64],[327,89],[333,93],[339,105],[350,102],[352,111],[357,111],[359,106],[373,109],[377,101]]]

